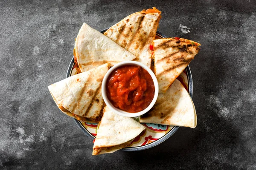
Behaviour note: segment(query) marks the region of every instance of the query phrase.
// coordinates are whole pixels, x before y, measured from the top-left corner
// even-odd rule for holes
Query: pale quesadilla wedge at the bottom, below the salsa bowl
[[[144,129],[139,122],[119,116],[106,106],[93,145],[93,155],[113,153],[128,146]]]

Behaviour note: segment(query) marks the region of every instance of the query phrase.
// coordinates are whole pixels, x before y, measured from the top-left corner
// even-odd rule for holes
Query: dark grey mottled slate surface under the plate
[[[65,78],[83,22],[102,30],[152,6],[159,31],[202,44],[190,64],[198,126],[148,150],[91,156],[47,86]],[[255,170],[255,12],[255,0],[1,0],[0,169]]]

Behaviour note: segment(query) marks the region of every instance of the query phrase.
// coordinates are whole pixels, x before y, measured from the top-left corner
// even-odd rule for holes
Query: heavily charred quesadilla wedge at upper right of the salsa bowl
[[[189,65],[200,48],[199,43],[183,38],[163,38],[153,43],[154,73],[159,93],[165,93],[174,80]]]

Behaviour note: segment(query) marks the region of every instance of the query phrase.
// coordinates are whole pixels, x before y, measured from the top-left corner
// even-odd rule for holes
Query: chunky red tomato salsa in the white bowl
[[[137,113],[151,103],[155,88],[148,71],[137,65],[125,65],[110,74],[106,90],[113,106]]]

